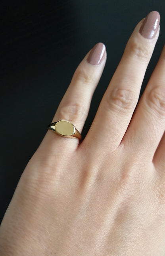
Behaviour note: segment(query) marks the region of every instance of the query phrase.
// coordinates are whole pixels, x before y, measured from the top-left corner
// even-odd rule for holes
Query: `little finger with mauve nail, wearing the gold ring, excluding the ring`
[[[103,43],[96,44],[77,67],[71,83],[63,96],[52,122],[70,121],[81,133],[88,115],[90,102],[106,63],[106,47]],[[75,149],[79,144],[77,138],[64,138],[48,130],[42,146]]]

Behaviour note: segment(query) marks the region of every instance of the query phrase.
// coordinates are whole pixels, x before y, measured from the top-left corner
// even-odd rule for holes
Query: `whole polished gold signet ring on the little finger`
[[[82,139],[81,134],[75,128],[75,126],[71,122],[66,120],[59,120],[57,122],[49,124],[47,129],[52,130],[63,137],[78,138],[79,140]]]

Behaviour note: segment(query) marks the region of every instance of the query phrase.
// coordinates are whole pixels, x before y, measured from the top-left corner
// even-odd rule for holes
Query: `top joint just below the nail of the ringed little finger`
[[[91,85],[96,83],[95,78],[93,77],[92,73],[90,73],[87,69],[78,67],[74,74],[74,79],[78,83],[83,83],[87,85]]]

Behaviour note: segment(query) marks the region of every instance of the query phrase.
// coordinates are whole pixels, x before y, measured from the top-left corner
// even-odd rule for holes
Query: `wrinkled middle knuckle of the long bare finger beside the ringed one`
[[[110,93],[108,102],[119,110],[129,110],[136,105],[136,98],[135,93],[129,89],[115,88]]]

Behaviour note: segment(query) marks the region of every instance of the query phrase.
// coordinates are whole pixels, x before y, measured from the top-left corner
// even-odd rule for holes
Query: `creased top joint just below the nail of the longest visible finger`
[[[130,41],[127,51],[129,52],[129,54],[133,54],[140,59],[146,59],[147,61],[150,59],[150,47],[138,41]]]

